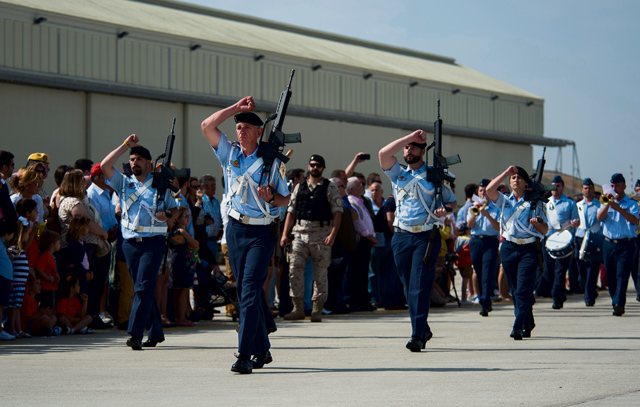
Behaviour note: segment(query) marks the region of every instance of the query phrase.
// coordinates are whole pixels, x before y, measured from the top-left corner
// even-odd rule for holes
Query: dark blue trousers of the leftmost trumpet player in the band
[[[499,244],[497,236],[495,238],[472,236],[469,242],[471,262],[480,284],[480,305],[486,310],[491,309],[491,295],[496,285]]]

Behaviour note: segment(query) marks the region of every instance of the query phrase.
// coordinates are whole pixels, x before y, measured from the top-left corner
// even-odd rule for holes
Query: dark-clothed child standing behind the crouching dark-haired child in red
[[[93,279],[93,272],[89,270],[89,257],[82,236],[89,233],[91,220],[82,215],[74,215],[69,222],[67,233],[67,250],[69,254],[69,275],[75,276],[80,282],[80,292],[89,292],[89,281]]]

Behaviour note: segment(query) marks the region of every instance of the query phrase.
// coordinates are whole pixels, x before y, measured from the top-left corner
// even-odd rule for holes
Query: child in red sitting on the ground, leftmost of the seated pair
[[[40,279],[29,276],[27,295],[20,307],[22,331],[32,336],[58,336],[62,329],[55,326],[58,319],[51,308],[38,311],[36,296],[40,294]]]

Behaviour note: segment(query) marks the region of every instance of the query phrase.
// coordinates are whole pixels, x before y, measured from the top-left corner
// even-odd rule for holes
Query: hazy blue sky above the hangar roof
[[[455,58],[544,98],[544,135],[576,142],[583,178],[640,176],[640,1],[183,1]]]

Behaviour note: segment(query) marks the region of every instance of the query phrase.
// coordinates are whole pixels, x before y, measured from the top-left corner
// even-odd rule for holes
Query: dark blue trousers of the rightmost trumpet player
[[[619,243],[604,241],[602,256],[604,268],[607,270],[607,283],[611,304],[624,308],[627,303],[627,286],[633,267],[633,256],[636,245],[633,240],[625,240]]]

